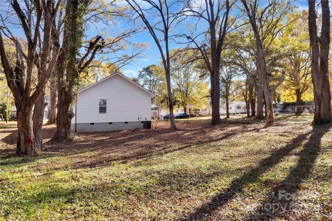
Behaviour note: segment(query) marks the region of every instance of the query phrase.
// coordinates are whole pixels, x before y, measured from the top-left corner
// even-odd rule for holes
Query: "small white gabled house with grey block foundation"
[[[118,131],[151,128],[154,93],[120,73],[80,90],[73,108],[73,131]]]

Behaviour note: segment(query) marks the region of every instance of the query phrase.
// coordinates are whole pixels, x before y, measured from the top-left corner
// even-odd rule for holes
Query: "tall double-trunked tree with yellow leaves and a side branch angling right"
[[[258,73],[258,90],[257,90],[257,117],[264,118],[263,100],[266,103],[266,120],[269,124],[273,124],[273,97],[275,90],[284,79],[284,71],[279,77],[278,70],[273,70],[273,64],[276,60],[271,60],[268,65],[267,57],[270,49],[275,44],[275,39],[282,33],[282,30],[288,25],[284,23],[284,19],[289,11],[291,11],[291,3],[289,1],[272,0],[267,4],[261,4],[260,1],[241,0],[243,5],[243,14],[246,15],[248,23],[255,39],[255,61]],[[273,69],[269,69],[273,67]],[[275,74],[275,75],[273,75]],[[277,75],[276,75],[277,74]],[[275,79],[279,77],[279,81]]]

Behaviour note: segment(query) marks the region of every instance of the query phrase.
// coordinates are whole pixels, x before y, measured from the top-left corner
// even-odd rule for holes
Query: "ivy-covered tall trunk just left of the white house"
[[[66,20],[64,25],[63,48],[57,63],[57,132],[53,140],[71,140],[71,119],[74,117],[72,107],[77,96],[77,84],[80,70],[77,67],[77,54],[82,46],[82,17],[87,9],[88,1],[67,1]],[[100,38],[96,38],[97,39]],[[99,41],[99,40],[98,40]],[[97,42],[98,42],[97,41]],[[55,40],[56,47],[59,39]],[[93,58],[93,57],[92,57]]]

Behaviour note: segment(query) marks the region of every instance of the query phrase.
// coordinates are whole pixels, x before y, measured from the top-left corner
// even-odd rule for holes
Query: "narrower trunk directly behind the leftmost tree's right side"
[[[43,122],[44,122],[44,109],[46,103],[44,103],[45,89],[39,95],[35,108],[33,109],[33,133],[35,135],[36,146],[38,150],[43,148]]]

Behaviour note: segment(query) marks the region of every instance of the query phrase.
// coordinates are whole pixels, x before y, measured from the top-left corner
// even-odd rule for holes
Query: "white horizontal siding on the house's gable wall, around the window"
[[[107,100],[100,113],[100,100]],[[75,113],[75,108],[74,108]],[[72,123],[140,122],[151,120],[151,94],[120,75],[83,90],[77,100]]]

